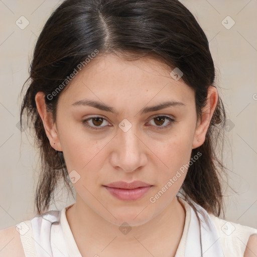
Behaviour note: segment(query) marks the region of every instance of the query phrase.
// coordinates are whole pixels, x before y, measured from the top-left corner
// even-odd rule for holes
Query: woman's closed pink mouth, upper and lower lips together
[[[117,181],[104,187],[119,200],[135,201],[143,197],[153,186],[142,181],[134,181],[132,183]]]

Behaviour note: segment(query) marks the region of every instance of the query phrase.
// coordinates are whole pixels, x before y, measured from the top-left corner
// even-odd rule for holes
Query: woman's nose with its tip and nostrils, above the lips
[[[147,147],[134,126],[127,132],[118,130],[113,139],[111,165],[124,172],[134,172],[147,164]]]

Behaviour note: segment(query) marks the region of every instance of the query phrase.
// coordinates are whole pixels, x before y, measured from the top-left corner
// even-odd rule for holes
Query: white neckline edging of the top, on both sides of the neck
[[[185,248],[186,248],[186,239],[187,239],[187,232],[188,232],[188,228],[189,228],[189,224],[190,224],[190,219],[191,219],[191,210],[190,210],[190,205],[181,197],[178,197],[178,200],[180,201],[180,203],[182,203],[182,205],[185,208],[185,223],[184,223],[184,228],[183,228],[183,232],[182,232],[182,236],[175,254],[175,257],[180,256],[181,254],[184,255],[185,253]],[[66,216],[66,211],[73,206],[75,203],[72,203],[66,207],[64,207],[61,210],[61,217],[60,217],[60,223],[62,226],[62,230],[63,230],[63,235],[64,235],[64,240],[66,243],[66,247],[67,247],[67,251],[69,256],[74,256],[74,257],[82,257],[78,246],[76,244],[76,241],[74,239],[74,236],[72,234],[70,225],[68,223],[67,220],[67,216]]]

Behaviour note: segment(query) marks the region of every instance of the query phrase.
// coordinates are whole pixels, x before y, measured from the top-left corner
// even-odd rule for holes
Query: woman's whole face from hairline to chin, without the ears
[[[194,91],[170,72],[149,58],[97,56],[59,97],[55,148],[76,204],[113,224],[146,223],[172,204],[198,147]],[[151,108],[165,102],[173,104]],[[106,187],[120,181],[150,186]]]

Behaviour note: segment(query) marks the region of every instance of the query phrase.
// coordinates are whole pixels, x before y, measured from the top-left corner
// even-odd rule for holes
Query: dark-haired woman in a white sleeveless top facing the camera
[[[225,111],[180,2],[64,1],[30,78],[21,117],[42,156],[38,216],[2,230],[14,241],[0,254],[256,256],[257,229],[218,218]],[[76,202],[48,210],[62,180]]]

